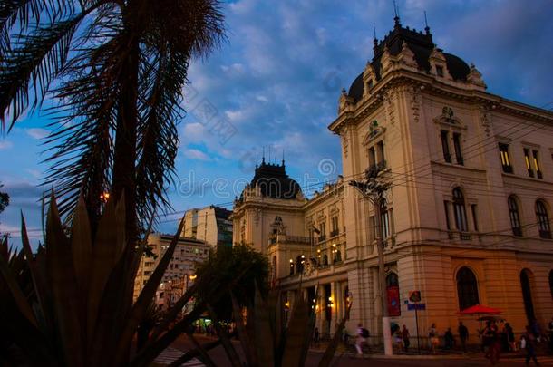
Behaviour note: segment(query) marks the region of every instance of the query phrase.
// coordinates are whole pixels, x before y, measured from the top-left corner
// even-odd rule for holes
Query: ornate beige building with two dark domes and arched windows
[[[374,206],[348,184],[367,169],[391,184],[381,235],[393,322],[415,335],[408,298],[418,290],[421,335],[459,321],[475,335],[475,317],[458,314],[473,304],[500,308],[516,332],[534,318],[546,324],[553,113],[486,92],[476,67],[444,53],[428,27],[395,18],[329,130],[342,144],[341,179],[306,199],[284,162],[262,162],[232,216],[234,242],[267,254],[288,301],[306,287],[323,333],[350,301],[350,333],[357,323],[382,333]]]

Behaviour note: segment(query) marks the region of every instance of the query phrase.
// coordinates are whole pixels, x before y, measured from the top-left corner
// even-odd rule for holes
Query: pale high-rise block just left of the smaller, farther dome
[[[182,236],[205,241],[213,247],[232,246],[232,212],[226,208],[209,206],[194,208],[185,213]]]

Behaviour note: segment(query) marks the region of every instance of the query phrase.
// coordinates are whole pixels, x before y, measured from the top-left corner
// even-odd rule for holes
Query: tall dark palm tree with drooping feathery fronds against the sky
[[[218,0],[1,2],[2,128],[52,98],[44,184],[62,215],[82,195],[96,227],[102,193],[124,192],[134,246],[158,203],[169,205],[189,62],[223,39]]]

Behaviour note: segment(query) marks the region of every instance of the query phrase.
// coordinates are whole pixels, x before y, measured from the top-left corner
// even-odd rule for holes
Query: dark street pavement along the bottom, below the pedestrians
[[[202,335],[195,335],[199,340],[199,343],[205,343],[212,341],[212,338],[205,337]],[[235,348],[238,353],[241,355],[241,350],[239,348],[239,343],[235,343]],[[160,354],[158,359],[156,359],[157,365],[169,364],[179,358],[181,353],[193,349],[193,344],[185,335],[181,335],[175,343],[173,343],[167,350]],[[217,347],[209,351],[209,356],[212,358],[213,362],[218,367],[230,367],[228,362],[227,355],[222,347]],[[318,362],[323,357],[322,351],[311,350],[307,354],[306,367],[315,367],[318,365]],[[538,362],[542,366],[553,366],[553,356],[539,356]],[[532,365],[533,362],[530,362]],[[199,362],[197,359],[194,359],[190,362],[183,364],[186,367],[199,367],[203,366],[202,362]],[[358,357],[354,353],[348,352],[338,352],[335,354],[335,359],[331,364],[335,367],[356,367],[356,366],[386,366],[386,367],[395,367],[395,366],[423,366],[423,367],[439,367],[439,366],[489,366],[490,361],[485,359],[481,354],[471,353],[469,355],[461,354],[442,354],[442,355],[394,355],[392,357],[384,357],[379,354],[365,354],[363,357]],[[500,360],[496,366],[523,366],[525,365],[524,355],[523,354],[508,354]]]

